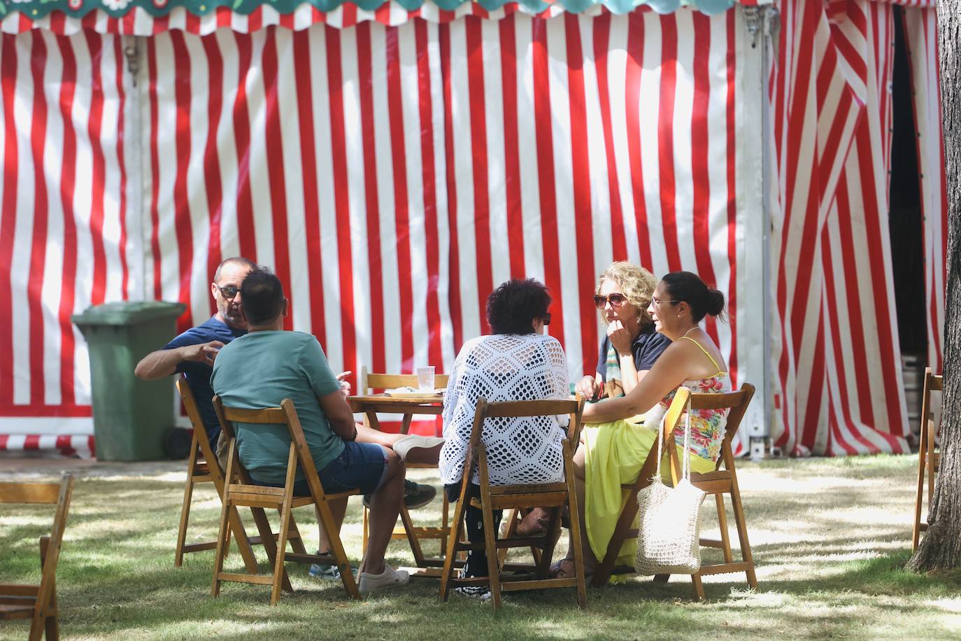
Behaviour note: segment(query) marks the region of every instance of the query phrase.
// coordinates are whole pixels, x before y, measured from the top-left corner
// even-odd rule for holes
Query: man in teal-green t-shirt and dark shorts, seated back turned
[[[289,302],[280,280],[259,268],[244,280],[240,294],[248,333],[217,355],[210,379],[214,393],[227,407],[249,409],[277,407],[291,399],[324,490],[359,488],[370,496],[370,534],[357,578],[360,593],[407,583],[407,572],[383,560],[404,499],[404,461],[390,448],[357,443],[354,414],[320,343],[308,333],[283,330]],[[238,423],[234,431],[237,455],[251,480],[282,486],[290,450],[286,427]],[[295,494],[309,494],[300,471],[296,481]],[[346,505],[346,499],[342,506],[332,505],[335,516],[339,512],[342,519]]]

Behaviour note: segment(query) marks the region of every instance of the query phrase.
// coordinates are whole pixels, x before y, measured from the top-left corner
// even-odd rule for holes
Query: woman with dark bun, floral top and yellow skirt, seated
[[[626,396],[584,407],[587,426],[574,456],[574,471],[586,572],[604,557],[623,505],[621,485],[637,479],[648,453],[657,447],[657,429],[678,388],[683,385],[700,394],[730,391],[724,357],[701,329],[704,316],[718,316],[724,308],[724,294],[708,287],[697,274],[665,276],[654,289],[648,312],[656,331],[673,342]],[[712,472],[721,455],[727,410],[692,410],[690,425],[691,470]],[[678,455],[683,456],[679,443],[683,443],[684,429],[678,431]],[[669,478],[670,468],[661,470]],[[632,565],[636,550],[636,542],[628,539],[618,562]],[[558,574],[570,575],[572,563],[561,561]]]

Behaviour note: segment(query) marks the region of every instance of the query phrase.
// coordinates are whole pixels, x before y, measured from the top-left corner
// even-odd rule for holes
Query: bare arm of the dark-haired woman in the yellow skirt
[[[626,396],[584,407],[584,423],[609,423],[654,407],[688,378],[689,359],[684,355],[684,347],[673,344],[664,350],[650,372]]]

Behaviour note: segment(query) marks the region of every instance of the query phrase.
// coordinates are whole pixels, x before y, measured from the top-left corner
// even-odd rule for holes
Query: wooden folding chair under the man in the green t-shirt
[[[354,574],[351,572],[350,562],[344,553],[344,546],[340,542],[340,531],[334,525],[333,514],[329,502],[347,498],[354,494],[359,494],[359,490],[354,489],[349,492],[339,494],[327,494],[317,476],[317,468],[310,456],[307,440],[304,438],[304,430],[301,428],[300,420],[297,418],[297,410],[294,409],[293,401],[283,399],[281,407],[267,407],[265,409],[237,409],[234,407],[224,407],[220,397],[213,397],[213,408],[220,419],[220,427],[228,438],[227,472],[226,479],[229,481],[224,485],[221,495],[223,505],[220,510],[220,530],[217,536],[217,553],[213,567],[213,589],[212,594],[216,597],[220,593],[220,581],[236,581],[241,583],[259,583],[270,585],[270,604],[274,605],[280,601],[281,589],[286,592],[293,592],[290,580],[287,578],[283,561],[291,560],[298,563],[336,563],[340,570],[340,579],[344,583],[344,589],[355,599],[360,598],[357,591],[357,583]],[[247,471],[243,468],[236,451],[236,436],[232,424],[255,423],[261,425],[285,425],[290,434],[290,452],[287,456],[287,473],[283,487],[265,487],[255,485],[250,481]],[[297,467],[300,466],[307,479],[310,494],[308,496],[294,496],[294,479]],[[248,574],[234,574],[224,572],[224,553],[227,548],[228,535],[228,513],[232,507],[246,505],[254,513],[255,522],[260,530],[260,537],[263,540],[263,548],[270,558],[273,572],[269,576],[260,575],[256,572]],[[291,510],[295,507],[304,505],[314,505],[317,518],[320,520],[327,538],[331,544],[332,554],[327,555],[308,555],[304,550],[303,544],[300,549],[294,552],[287,552],[287,542],[290,540],[289,533],[293,524]],[[276,508],[281,511],[281,530],[277,534],[276,544],[270,524],[267,523],[264,508]]]

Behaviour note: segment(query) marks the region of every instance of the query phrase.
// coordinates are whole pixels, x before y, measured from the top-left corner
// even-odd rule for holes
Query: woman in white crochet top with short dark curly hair
[[[444,397],[444,447],[440,479],[448,498],[456,501],[464,458],[474,424],[477,402],[530,401],[570,397],[567,359],[553,336],[544,334],[551,322],[551,297],[543,284],[527,279],[501,284],[487,298],[490,335],[467,341],[457,355]],[[481,440],[487,450],[490,482],[544,483],[562,481],[562,442],[567,416],[487,419]],[[480,496],[477,472],[469,497]],[[468,538],[483,541],[480,509],[467,505]],[[501,513],[494,513],[495,528]],[[465,577],[487,574],[483,551],[468,555]],[[459,591],[474,594],[473,586]],[[482,592],[482,590],[480,591]]]

